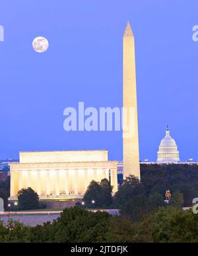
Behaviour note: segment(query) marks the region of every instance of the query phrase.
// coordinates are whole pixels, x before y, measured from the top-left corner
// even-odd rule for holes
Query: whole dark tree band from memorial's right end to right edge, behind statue
[[[137,222],[159,207],[166,206],[166,190],[172,193],[170,206],[192,206],[193,198],[198,198],[197,164],[141,164],[141,180],[128,176],[114,197],[108,180],[104,179],[100,184],[92,180],[81,207],[118,208],[122,216]]]

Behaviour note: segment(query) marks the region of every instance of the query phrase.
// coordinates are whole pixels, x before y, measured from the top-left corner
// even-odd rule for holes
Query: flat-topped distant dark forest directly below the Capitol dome
[[[183,206],[191,206],[198,197],[197,164],[141,164],[141,183],[147,196],[157,192],[164,196],[166,190],[172,194],[183,194]]]

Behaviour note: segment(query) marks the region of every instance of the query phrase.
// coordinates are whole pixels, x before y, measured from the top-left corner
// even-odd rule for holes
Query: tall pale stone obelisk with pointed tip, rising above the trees
[[[125,110],[125,123],[131,127],[131,132],[123,131],[123,178],[129,174],[140,178],[135,40],[129,22],[123,35],[123,111]]]

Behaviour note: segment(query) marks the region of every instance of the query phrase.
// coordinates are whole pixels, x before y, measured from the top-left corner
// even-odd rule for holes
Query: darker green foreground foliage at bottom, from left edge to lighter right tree
[[[88,212],[82,208],[66,208],[52,224],[27,227],[11,220],[0,223],[0,241],[24,242],[117,242],[132,241],[133,224],[106,212]]]

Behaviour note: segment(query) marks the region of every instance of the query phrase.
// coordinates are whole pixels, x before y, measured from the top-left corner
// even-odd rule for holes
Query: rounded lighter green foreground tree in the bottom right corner
[[[163,207],[137,225],[137,242],[184,243],[198,241],[198,214]]]

